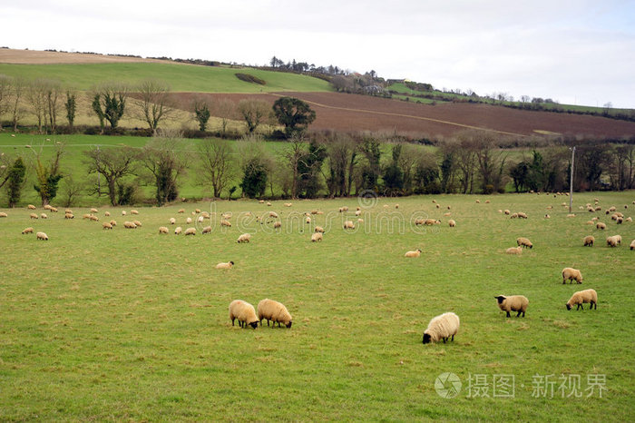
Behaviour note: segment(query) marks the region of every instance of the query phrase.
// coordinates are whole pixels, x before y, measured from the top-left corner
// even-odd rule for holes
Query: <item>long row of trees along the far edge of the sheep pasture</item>
[[[64,205],[106,196],[112,205],[161,206],[179,198],[186,179],[215,198],[562,192],[569,189],[574,145],[575,191],[633,189],[635,138],[619,141],[560,139],[519,153],[501,148],[508,142],[484,131],[459,133],[436,149],[390,135],[300,132],[271,152],[257,134],[232,143],[183,140],[181,133],[160,131],[142,149],[103,146],[84,152],[82,171],[64,170],[64,144],[53,145],[46,158],[35,146],[28,149],[33,155],[7,152],[0,156],[0,188],[10,207],[20,201],[27,180],[43,204],[57,197]],[[143,187],[151,187],[151,199],[144,198]]]

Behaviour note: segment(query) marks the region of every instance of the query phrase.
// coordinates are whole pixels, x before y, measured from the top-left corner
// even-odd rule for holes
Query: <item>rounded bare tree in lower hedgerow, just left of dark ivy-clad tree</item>
[[[215,198],[220,198],[233,176],[233,150],[225,140],[202,140],[198,148],[200,157],[200,184],[211,186]]]

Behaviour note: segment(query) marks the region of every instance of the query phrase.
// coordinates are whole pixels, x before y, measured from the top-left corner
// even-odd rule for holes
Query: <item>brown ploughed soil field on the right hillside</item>
[[[193,93],[175,94],[181,104],[190,103]],[[489,104],[441,103],[436,105],[346,93],[206,94],[212,100],[229,98],[238,103],[258,98],[274,103],[290,95],[311,104],[317,118],[311,129],[345,132],[373,131],[425,134],[446,137],[466,129],[530,136],[544,133],[623,137],[635,135],[635,123],[598,116],[532,112]]]

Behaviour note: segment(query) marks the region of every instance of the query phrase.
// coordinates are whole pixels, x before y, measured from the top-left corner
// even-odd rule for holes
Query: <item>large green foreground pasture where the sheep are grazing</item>
[[[635,208],[634,192],[584,193],[576,210],[595,197],[626,216]],[[137,230],[122,228],[120,209],[100,208],[99,222],[83,221],[80,208],[72,221],[3,209],[0,420],[632,421],[635,226],[602,211],[592,214],[608,229],[597,231],[584,224],[591,213],[567,218],[567,201],[439,195],[399,199],[398,209],[396,200],[366,201],[351,232],[337,208],[347,205],[355,219],[357,199],[138,208]],[[190,226],[197,207],[212,212],[210,235],[157,233],[170,217]],[[324,214],[303,223],[313,209]],[[119,222],[112,231],[102,230],[106,211]],[[269,211],[280,214],[281,231],[254,220]],[[233,212],[225,231],[220,212]],[[426,216],[442,224],[411,224]],[[321,243],[309,241],[315,224],[327,229]],[[50,240],[22,235],[27,226]],[[236,243],[245,231],[251,242]],[[616,233],[622,245],[606,247]],[[588,234],[592,248],[581,246]],[[505,254],[518,236],[533,249]],[[416,248],[420,258],[404,258]],[[220,261],[236,264],[217,271]],[[569,266],[582,271],[581,285],[562,284]],[[597,310],[565,309],[573,291],[589,288]],[[526,317],[506,319],[493,299],[501,293],[528,297]],[[231,326],[231,300],[264,298],[287,305],[290,330]],[[445,311],[461,319],[454,342],[423,345],[428,321]],[[435,391],[445,372],[462,382],[454,398]],[[513,376],[513,390],[498,385],[494,397],[500,375]],[[548,375],[553,394],[540,379]],[[581,383],[561,389],[561,375]],[[489,397],[475,395],[478,387]],[[576,388],[581,397],[566,398]]]

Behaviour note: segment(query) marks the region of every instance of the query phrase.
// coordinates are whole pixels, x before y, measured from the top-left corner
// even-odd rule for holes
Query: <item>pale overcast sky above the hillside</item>
[[[436,88],[635,108],[635,0],[0,0],[0,44],[333,64]]]

